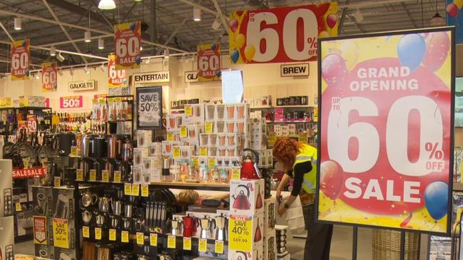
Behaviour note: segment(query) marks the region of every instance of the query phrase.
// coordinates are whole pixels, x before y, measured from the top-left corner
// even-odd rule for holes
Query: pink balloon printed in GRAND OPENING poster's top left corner
[[[322,61],[322,78],[332,87],[337,87],[346,76],[344,59],[336,53],[328,54]]]

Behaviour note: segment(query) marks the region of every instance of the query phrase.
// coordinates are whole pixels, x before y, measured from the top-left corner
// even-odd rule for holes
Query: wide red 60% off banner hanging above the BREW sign
[[[233,63],[317,60],[317,38],[337,36],[337,2],[234,11],[228,28]]]

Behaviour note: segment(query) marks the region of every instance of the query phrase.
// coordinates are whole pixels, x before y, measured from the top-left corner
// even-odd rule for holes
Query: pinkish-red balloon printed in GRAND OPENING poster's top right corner
[[[429,33],[426,38],[426,54],[422,64],[430,71],[437,71],[444,64],[449,54],[450,39],[447,33],[441,31]]]

